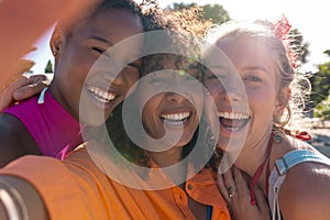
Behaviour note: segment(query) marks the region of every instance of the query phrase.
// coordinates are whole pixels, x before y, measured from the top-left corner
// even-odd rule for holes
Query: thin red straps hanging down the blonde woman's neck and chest
[[[272,131],[272,134],[271,134],[271,136],[268,139],[268,143],[267,143],[266,157],[263,161],[263,163],[255,170],[255,173],[253,175],[253,178],[252,178],[252,182],[251,182],[251,188],[250,188],[251,200],[250,200],[250,204],[252,206],[255,206],[255,204],[256,204],[256,201],[255,201],[255,195],[253,193],[253,189],[254,189],[254,186],[256,185],[260,176],[262,175],[266,163],[267,163],[267,170],[266,170],[267,172],[266,173],[266,176],[267,176],[267,178],[266,178],[266,193],[268,194],[270,156],[271,156],[271,148],[272,148],[272,145],[273,145],[273,140],[274,140],[274,132]]]

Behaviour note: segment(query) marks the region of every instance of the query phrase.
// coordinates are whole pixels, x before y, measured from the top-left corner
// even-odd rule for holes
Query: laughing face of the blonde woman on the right
[[[244,88],[239,89],[238,81],[232,80],[233,69],[219,64],[218,72],[223,87],[208,73],[205,84],[208,87],[218,108],[220,121],[219,144],[226,148],[230,138],[242,135],[248,130],[246,144],[257,144],[267,138],[276,116],[283,105],[277,100],[278,79],[271,51],[262,41],[240,38],[234,41],[219,41],[217,46],[229,57],[235,67]],[[224,89],[226,88],[226,89]],[[241,108],[243,94],[246,92],[249,110]],[[232,107],[239,109],[233,111]]]

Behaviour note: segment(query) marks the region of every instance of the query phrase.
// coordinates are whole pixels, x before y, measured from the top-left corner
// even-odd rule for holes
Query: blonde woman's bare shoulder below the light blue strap
[[[330,167],[302,163],[293,167],[279,191],[284,219],[330,219]]]

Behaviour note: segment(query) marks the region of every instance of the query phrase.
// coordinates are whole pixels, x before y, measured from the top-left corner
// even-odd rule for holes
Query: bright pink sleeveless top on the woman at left
[[[82,143],[79,122],[46,89],[4,113],[16,117],[26,127],[43,155],[63,160]]]

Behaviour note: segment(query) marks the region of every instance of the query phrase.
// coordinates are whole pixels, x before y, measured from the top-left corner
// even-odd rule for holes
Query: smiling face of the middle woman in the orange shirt
[[[200,72],[175,70],[173,56],[165,56],[161,63],[164,70],[146,75],[136,88],[136,100],[145,100],[145,105],[139,103],[143,127],[153,139],[167,135],[167,140],[177,140],[182,132],[175,145],[184,146],[191,141],[204,107]]]

